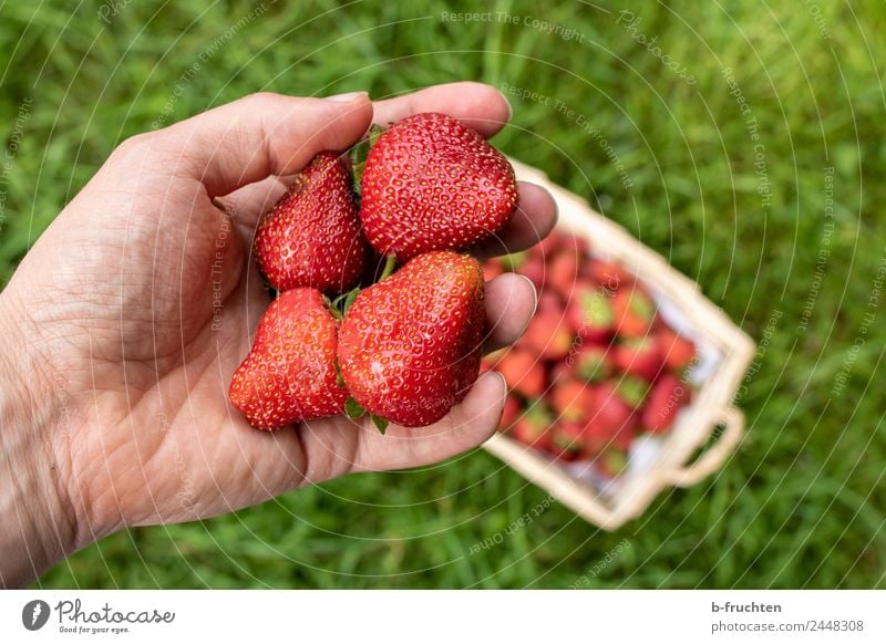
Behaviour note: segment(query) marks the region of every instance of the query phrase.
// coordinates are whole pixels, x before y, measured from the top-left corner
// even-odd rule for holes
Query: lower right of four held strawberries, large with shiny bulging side
[[[480,372],[483,271],[466,255],[429,252],[362,291],[339,331],[353,399],[406,427],[440,420]]]

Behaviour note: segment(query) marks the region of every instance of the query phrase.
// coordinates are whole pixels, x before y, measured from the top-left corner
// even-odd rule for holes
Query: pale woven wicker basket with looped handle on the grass
[[[535,168],[512,159],[517,178],[544,186],[559,207],[558,229],[586,237],[594,252],[621,263],[661,301],[679,310],[682,332],[709,356],[704,381],[678,417],[655,463],[642,474],[620,477],[615,491],[599,488],[570,474],[562,464],[497,434],[484,447],[528,480],[591,523],[615,530],[639,517],[655,497],[668,487],[688,487],[717,471],[738,446],[744,416],[732,405],[735,391],[754,354],[751,339],[710,302],[693,281],[631,237],[627,230],[595,212],[578,196],[552,184]],[[717,440],[694,461],[699,448]]]

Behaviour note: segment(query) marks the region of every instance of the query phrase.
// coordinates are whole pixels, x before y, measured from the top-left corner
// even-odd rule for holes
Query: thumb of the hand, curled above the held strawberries
[[[155,143],[175,150],[176,174],[217,197],[270,175],[296,174],[324,149],[343,150],[371,121],[365,92],[330,98],[260,93],[161,129]]]

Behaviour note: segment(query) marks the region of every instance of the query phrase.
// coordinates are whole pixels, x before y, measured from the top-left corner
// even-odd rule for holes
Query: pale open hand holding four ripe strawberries
[[[9,331],[0,359],[19,372],[23,393],[10,402],[18,412],[0,419],[4,433],[27,435],[22,451],[35,455],[28,469],[41,498],[31,511],[52,515],[31,523],[52,529],[38,534],[49,561],[8,569],[4,584],[123,527],[195,520],[352,471],[424,465],[495,430],[505,395],[496,374],[439,424],[392,425],[385,436],[342,418],[259,432],[227,402],[270,301],[250,241],[287,177],[323,149],[350,147],[373,120],[445,112],[490,136],[509,115],[498,92],[474,83],[374,104],[362,93],[342,98],[258,94],[126,141],[24,258],[0,295]],[[555,217],[546,191],[522,185],[521,209],[480,253],[526,248]],[[492,281],[488,347],[515,341],[534,305],[527,280]],[[10,445],[4,438],[14,471]]]

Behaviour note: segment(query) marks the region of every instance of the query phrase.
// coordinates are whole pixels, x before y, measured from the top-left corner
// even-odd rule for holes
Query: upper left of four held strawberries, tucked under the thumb
[[[347,291],[361,277],[368,247],[360,233],[351,176],[331,152],[313,157],[258,226],[256,257],[278,291]]]

